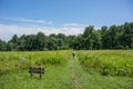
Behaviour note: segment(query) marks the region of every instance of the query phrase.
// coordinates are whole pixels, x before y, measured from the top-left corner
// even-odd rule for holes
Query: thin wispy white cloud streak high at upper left
[[[27,18],[1,18],[3,20],[10,20],[10,21],[18,21],[18,22],[27,22],[27,23],[45,23],[45,24],[52,24],[52,21],[45,21],[45,20],[34,20],[34,19],[27,19]]]

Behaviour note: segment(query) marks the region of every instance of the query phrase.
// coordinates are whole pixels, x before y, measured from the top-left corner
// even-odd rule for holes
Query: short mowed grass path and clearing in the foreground
[[[133,78],[90,75],[71,57],[65,65],[47,67],[42,79],[31,79],[28,70],[3,75],[0,89],[133,89]]]

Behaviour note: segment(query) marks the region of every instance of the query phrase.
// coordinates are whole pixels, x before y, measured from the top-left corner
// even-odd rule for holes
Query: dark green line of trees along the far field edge
[[[8,42],[0,40],[0,51],[43,51],[43,50],[98,50],[98,49],[133,49],[133,22],[94,29],[89,26],[78,36],[43,32],[37,34],[14,34]]]

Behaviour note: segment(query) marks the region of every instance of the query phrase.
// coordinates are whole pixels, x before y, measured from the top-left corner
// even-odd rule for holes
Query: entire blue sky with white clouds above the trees
[[[84,28],[133,22],[133,0],[0,0],[0,39],[39,31],[79,34]]]

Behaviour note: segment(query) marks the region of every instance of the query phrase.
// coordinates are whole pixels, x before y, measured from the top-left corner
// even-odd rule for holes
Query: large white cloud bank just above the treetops
[[[13,24],[0,24],[0,39],[9,40],[11,37],[17,33],[21,34],[31,34],[38,33],[39,31],[44,32],[47,36],[50,33],[64,33],[69,34],[79,34],[84,31],[84,27],[42,27],[42,26],[13,26]]]

